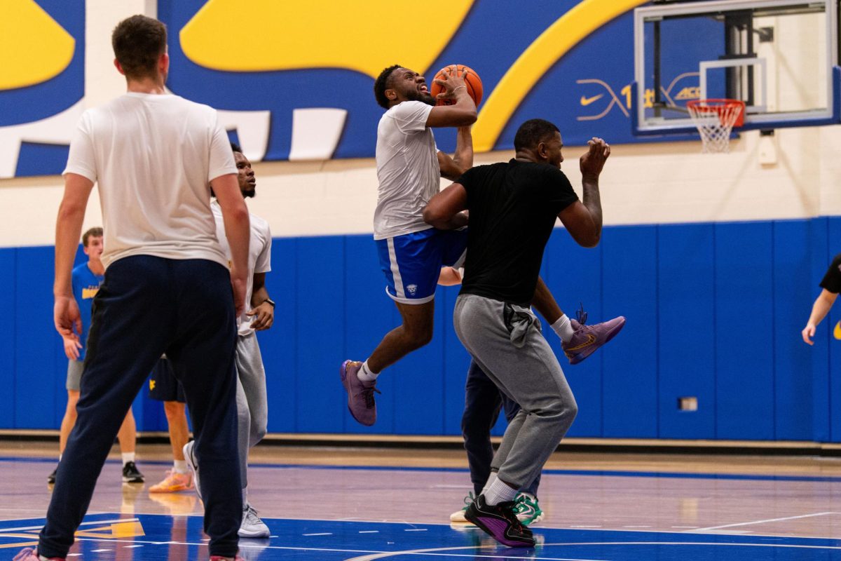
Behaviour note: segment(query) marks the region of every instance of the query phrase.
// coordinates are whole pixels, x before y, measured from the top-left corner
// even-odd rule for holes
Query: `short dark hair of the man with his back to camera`
[[[167,51],[167,26],[144,15],[131,16],[114,28],[111,45],[126,77],[154,77],[158,58]]]

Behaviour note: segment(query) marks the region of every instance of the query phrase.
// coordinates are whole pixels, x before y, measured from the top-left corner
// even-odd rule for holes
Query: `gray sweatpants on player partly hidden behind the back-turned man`
[[[257,334],[238,336],[236,341],[237,446],[240,453],[242,488],[248,485],[248,451],[266,436],[268,399]]]

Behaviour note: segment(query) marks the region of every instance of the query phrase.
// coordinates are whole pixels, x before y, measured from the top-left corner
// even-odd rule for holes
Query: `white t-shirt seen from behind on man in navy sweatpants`
[[[236,166],[213,108],[175,95],[126,93],[88,109],[64,172],[99,184],[105,267],[132,255],[227,264],[209,182]]]

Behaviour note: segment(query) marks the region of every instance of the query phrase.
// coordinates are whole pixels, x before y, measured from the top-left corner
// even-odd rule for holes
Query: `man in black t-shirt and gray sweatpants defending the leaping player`
[[[463,211],[469,212],[467,261],[453,324],[479,368],[521,406],[492,463],[497,479],[464,515],[511,547],[535,543],[513,512],[514,498],[540,473],[578,412],[529,305],[556,219],[579,245],[599,243],[599,175],[611,149],[598,138],[588,145],[580,159],[583,201],[560,171],[558,127],[532,119],[517,130],[514,159],[473,167],[424,210],[424,219],[442,229],[465,225]],[[616,325],[613,334],[619,329]]]

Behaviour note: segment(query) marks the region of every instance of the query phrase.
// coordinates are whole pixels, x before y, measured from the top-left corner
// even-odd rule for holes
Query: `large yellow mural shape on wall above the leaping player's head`
[[[326,5],[209,0],[184,25],[179,38],[184,55],[214,70],[346,68],[377,77],[385,66],[399,61],[424,72],[450,42],[472,4],[473,0],[427,0],[407,18],[392,0]],[[395,33],[399,40],[394,40]]]

